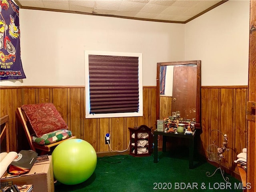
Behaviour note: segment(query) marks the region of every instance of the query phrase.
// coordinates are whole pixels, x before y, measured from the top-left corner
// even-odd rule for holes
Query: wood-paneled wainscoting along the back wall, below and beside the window
[[[9,115],[10,150],[20,150],[26,139],[16,130],[16,108],[23,104],[52,102],[68,124],[72,133],[89,142],[96,152],[109,152],[105,134],[110,133],[112,150],[128,148],[128,127],[142,124],[155,126],[156,87],[143,87],[143,117],[85,119],[84,86],[1,86],[0,116]],[[17,141],[22,140],[22,142]]]

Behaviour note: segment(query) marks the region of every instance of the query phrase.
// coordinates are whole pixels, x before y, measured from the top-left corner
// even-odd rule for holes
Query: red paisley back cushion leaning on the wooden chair
[[[21,108],[24,110],[36,137],[56,130],[68,129],[66,122],[52,103],[22,105]]]

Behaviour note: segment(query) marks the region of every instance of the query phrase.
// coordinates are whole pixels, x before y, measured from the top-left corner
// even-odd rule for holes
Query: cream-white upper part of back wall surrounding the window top
[[[84,50],[143,54],[143,86],[156,86],[156,63],[184,60],[184,24],[20,9],[26,79],[8,86],[84,86]]]

